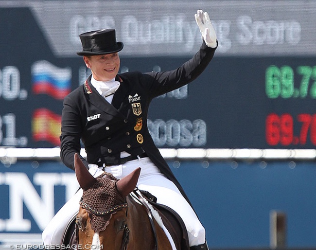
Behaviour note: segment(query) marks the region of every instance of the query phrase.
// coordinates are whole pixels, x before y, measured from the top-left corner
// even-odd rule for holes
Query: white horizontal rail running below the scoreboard
[[[161,155],[166,160],[293,160],[310,161],[316,159],[316,149],[255,149],[255,148],[160,148]],[[84,149],[80,154],[86,157]],[[60,160],[60,148],[0,148],[0,161],[3,164],[14,163],[18,160]]]

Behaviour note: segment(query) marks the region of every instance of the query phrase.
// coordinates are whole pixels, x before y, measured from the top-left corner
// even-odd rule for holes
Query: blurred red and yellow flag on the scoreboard
[[[32,135],[35,142],[47,141],[60,146],[61,116],[47,108],[38,108],[33,112]]]

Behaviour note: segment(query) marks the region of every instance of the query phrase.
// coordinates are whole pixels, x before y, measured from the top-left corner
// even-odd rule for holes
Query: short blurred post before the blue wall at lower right
[[[286,247],[286,214],[281,211],[270,212],[270,248]]]

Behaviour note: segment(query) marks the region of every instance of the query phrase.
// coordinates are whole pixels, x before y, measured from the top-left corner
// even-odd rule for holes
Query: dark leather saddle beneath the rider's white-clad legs
[[[135,196],[139,197],[139,194],[137,193],[137,190],[134,190],[132,193]],[[138,200],[142,203],[143,206],[146,207],[148,210],[148,205],[144,201],[143,197],[146,199],[146,201],[154,207],[154,209],[158,212],[160,215],[162,222],[164,226],[169,231],[175,246],[177,250],[190,250],[189,245],[189,238],[188,233],[185,227],[185,224],[182,220],[182,218],[171,208],[157,203],[157,198],[150,194],[147,191],[139,190],[141,193],[141,197],[138,198]],[[130,194],[129,196],[132,196]],[[149,216],[151,216],[151,212],[148,211]],[[152,225],[153,226],[153,225]],[[153,226],[154,227],[154,226]],[[155,228],[153,228],[155,232]],[[76,245],[77,243],[77,227],[76,227],[76,216],[71,220],[70,224],[68,225],[68,228],[65,232],[64,238],[63,238],[63,244],[67,245]]]

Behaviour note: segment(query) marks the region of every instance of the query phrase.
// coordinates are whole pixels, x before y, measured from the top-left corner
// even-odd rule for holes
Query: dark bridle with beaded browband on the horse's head
[[[96,215],[99,215],[99,216],[105,216],[107,214],[111,214],[111,213],[113,213],[115,211],[118,211],[118,210],[121,210],[123,208],[126,208],[126,216],[127,216],[127,210],[128,210],[128,204],[127,203],[123,203],[123,204],[117,205],[117,206],[115,206],[113,208],[110,208],[108,210],[105,210],[105,211],[97,211],[97,210],[91,208],[88,204],[86,204],[82,200],[80,200],[80,205],[84,209],[88,210],[90,213],[96,214]],[[77,225],[76,225],[76,228],[78,228]],[[128,241],[129,241],[129,228],[127,226],[127,223],[125,223],[124,224],[123,241],[122,241],[121,250],[126,250],[127,249]]]

